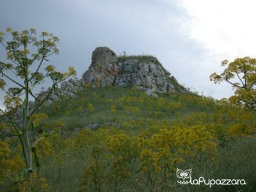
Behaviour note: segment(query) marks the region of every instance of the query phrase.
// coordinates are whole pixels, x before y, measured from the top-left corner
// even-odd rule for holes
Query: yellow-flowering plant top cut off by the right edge
[[[214,83],[227,82],[234,88],[230,102],[256,111],[256,59],[245,57],[229,62],[224,60],[221,66],[227,67],[221,74],[211,74]]]

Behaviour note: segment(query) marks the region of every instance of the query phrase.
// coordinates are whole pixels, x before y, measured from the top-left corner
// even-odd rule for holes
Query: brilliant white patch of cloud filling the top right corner
[[[254,0],[182,0],[190,19],[190,38],[202,42],[210,56],[234,59],[255,57]]]

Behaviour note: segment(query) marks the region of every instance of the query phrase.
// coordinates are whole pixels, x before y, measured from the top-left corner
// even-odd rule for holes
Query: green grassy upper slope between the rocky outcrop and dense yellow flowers
[[[213,113],[220,108],[223,107],[218,106],[214,99],[195,95],[166,94],[148,97],[136,88],[107,87],[85,90],[77,98],[54,102],[40,112],[49,116],[47,124],[61,120],[67,130],[72,130],[88,124],[124,123],[130,120],[172,123],[181,120],[187,124],[185,120],[192,116],[199,120],[202,116],[211,114],[209,123],[218,118],[212,115],[218,115]],[[230,120],[229,116],[227,118]],[[228,120],[225,121],[228,123]]]

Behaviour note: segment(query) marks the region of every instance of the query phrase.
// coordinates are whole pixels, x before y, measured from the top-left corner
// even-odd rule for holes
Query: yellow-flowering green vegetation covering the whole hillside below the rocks
[[[37,143],[42,167],[32,178],[35,190],[209,190],[177,184],[176,168],[192,168],[195,178],[246,180],[245,186],[212,190],[255,191],[255,136],[244,134],[255,127],[252,111],[196,95],[148,97],[136,87],[86,87],[79,97],[33,116],[35,132],[51,132]],[[92,124],[102,127],[86,128]],[[17,153],[11,152],[15,142],[0,142],[3,191],[28,186],[19,180],[24,163],[19,143]]]

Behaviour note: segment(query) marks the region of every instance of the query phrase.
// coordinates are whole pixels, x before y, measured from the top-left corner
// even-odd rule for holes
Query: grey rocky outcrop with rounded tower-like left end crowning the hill
[[[93,86],[138,86],[148,95],[155,92],[187,92],[153,56],[117,57],[108,47],[97,47],[92,64],[83,74],[84,83]]]

